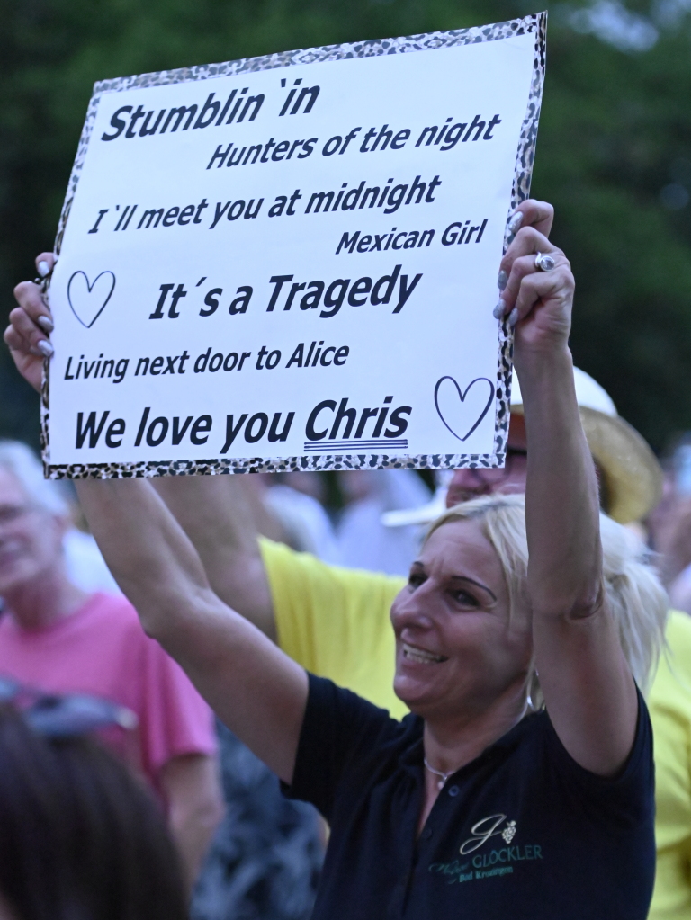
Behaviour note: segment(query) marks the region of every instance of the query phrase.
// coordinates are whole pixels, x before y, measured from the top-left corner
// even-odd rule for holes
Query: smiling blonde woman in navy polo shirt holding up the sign
[[[79,483],[144,628],[330,823],[318,920],[648,912],[652,742],[636,682],[665,598],[628,535],[611,522],[601,535],[568,348],[569,263],[526,226],[501,270],[526,497],[476,500],[432,528],[391,610],[402,722],[305,673],[222,604],[147,482]],[[6,339],[30,378],[40,312],[29,287],[17,298]]]

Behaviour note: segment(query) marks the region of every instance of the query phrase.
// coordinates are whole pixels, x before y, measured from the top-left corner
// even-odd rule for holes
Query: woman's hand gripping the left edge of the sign
[[[36,258],[40,277],[49,275],[55,265],[52,252],[41,252]],[[15,288],[18,306],[9,315],[5,341],[17,364],[17,370],[35,390],[40,392],[43,360],[52,357],[52,316],[35,282],[21,282]]]

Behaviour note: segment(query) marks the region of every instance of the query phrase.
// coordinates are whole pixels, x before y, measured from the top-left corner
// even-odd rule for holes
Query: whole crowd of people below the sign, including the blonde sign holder
[[[689,450],[573,367],[552,219],[500,267],[501,468],[344,473],[336,523],[307,473],[75,512],[0,443],[0,918],[691,917]]]

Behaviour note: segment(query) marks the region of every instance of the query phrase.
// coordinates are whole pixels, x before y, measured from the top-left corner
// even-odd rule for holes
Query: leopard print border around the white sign
[[[507,22],[473,29],[452,29],[446,32],[431,32],[424,35],[404,36],[397,39],[373,39],[341,45],[325,45],[321,48],[306,48],[302,51],[266,54],[263,57],[241,58],[226,63],[202,64],[183,67],[179,70],[161,71],[155,74],[119,77],[101,80],[95,84],[94,92],[86,112],[86,121],[79,140],[75,165],[67,186],[67,193],[60,215],[55,254],[60,255],[64,228],[69,218],[72,202],[86,157],[91,132],[96,121],[98,102],[104,93],[117,93],[125,89],[144,86],[167,86],[193,80],[209,80],[217,76],[252,73],[271,70],[300,63],[343,61],[357,57],[375,57],[381,54],[405,54],[429,51],[437,48],[452,48],[475,44],[480,41],[497,41],[515,35],[535,35],[535,60],[533,79],[530,86],[528,106],[516,155],[513,177],[510,213],[530,193],[530,180],[535,160],[537,124],[542,103],[542,87],[545,79],[545,55],[547,49],[547,13],[536,13]],[[508,225],[504,236],[504,251],[512,236]],[[46,287],[50,287],[50,280]],[[226,460],[149,461],[140,463],[71,464],[52,465],[50,448],[50,363],[44,363],[41,389],[41,447],[43,466],[47,477],[52,479],[86,477],[121,478],[143,476],[190,476],[224,473],[278,473],[290,470],[338,470],[338,469],[455,469],[461,466],[501,466],[504,462],[506,438],[509,431],[509,407],[511,400],[513,335],[506,321],[500,324],[497,382],[495,399],[495,442],[493,454],[421,454],[416,456],[388,456],[387,454],[316,454],[313,456],[283,457],[266,459],[247,457]]]

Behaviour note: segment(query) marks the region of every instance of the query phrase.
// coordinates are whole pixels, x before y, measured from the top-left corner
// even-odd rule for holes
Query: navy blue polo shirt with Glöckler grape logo
[[[618,776],[578,765],[543,710],[450,776],[417,836],[422,728],[310,675],[284,791],[331,828],[313,920],[645,920],[654,774],[641,696]]]

